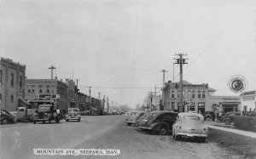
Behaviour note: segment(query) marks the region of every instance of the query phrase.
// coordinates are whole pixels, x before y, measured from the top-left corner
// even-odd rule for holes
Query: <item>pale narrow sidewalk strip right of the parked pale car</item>
[[[205,124],[207,125],[208,128],[215,128],[215,129],[223,130],[230,133],[237,133],[237,134],[241,134],[251,138],[256,138],[256,133],[239,130],[232,125],[225,125],[224,123],[218,123],[218,122],[212,122],[212,121],[206,121]]]

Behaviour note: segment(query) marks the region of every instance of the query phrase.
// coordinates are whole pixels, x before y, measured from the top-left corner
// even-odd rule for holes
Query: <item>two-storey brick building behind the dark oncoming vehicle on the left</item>
[[[54,103],[61,110],[68,108],[67,84],[55,79],[26,79],[26,100],[37,108],[41,104]]]

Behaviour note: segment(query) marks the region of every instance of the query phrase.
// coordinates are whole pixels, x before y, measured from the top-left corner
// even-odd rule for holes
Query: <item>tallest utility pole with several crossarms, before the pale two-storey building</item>
[[[183,56],[187,55],[187,54],[180,53],[180,54],[175,54],[175,55],[179,56],[179,58],[174,59],[174,60],[177,60],[177,62],[175,64],[178,64],[179,68],[180,68],[180,71],[179,71],[179,83],[180,83],[179,112],[182,112],[183,111],[183,64],[188,64],[186,62],[186,60],[188,60],[188,59],[183,59]]]

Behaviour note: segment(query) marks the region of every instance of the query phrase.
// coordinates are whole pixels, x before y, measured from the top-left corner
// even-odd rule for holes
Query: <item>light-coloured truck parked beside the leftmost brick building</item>
[[[32,122],[32,115],[35,114],[37,109],[27,109],[26,107],[18,107],[17,111],[11,111],[10,113],[17,117],[17,120]]]

